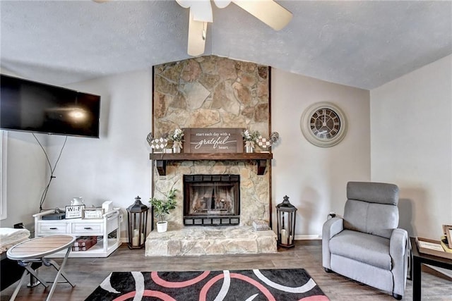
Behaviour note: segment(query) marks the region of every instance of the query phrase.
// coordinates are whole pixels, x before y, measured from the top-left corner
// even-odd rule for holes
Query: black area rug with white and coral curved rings
[[[86,301],[326,301],[304,269],[113,272]]]

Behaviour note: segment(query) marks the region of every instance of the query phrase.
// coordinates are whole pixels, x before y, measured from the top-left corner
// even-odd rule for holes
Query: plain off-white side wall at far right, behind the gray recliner
[[[452,223],[452,56],[371,91],[371,179],[400,188],[400,226]]]

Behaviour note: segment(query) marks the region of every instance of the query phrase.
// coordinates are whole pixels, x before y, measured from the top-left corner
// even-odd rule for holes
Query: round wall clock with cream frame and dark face
[[[309,106],[303,112],[300,125],[304,137],[318,147],[337,145],[347,130],[343,111],[330,102]]]

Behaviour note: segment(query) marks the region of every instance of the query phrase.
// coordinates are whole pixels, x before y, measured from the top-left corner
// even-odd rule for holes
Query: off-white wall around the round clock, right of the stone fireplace
[[[272,130],[280,133],[272,148],[273,203],[287,195],[298,209],[296,238],[319,238],[328,213],[343,214],[347,182],[370,180],[369,91],[277,69],[271,76]],[[344,111],[349,126],[338,145],[316,147],[304,138],[300,118],[316,102]]]

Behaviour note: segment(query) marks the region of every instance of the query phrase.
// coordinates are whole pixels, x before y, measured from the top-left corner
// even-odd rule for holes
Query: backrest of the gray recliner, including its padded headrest
[[[344,228],[391,238],[398,226],[398,187],[388,183],[349,182]]]

